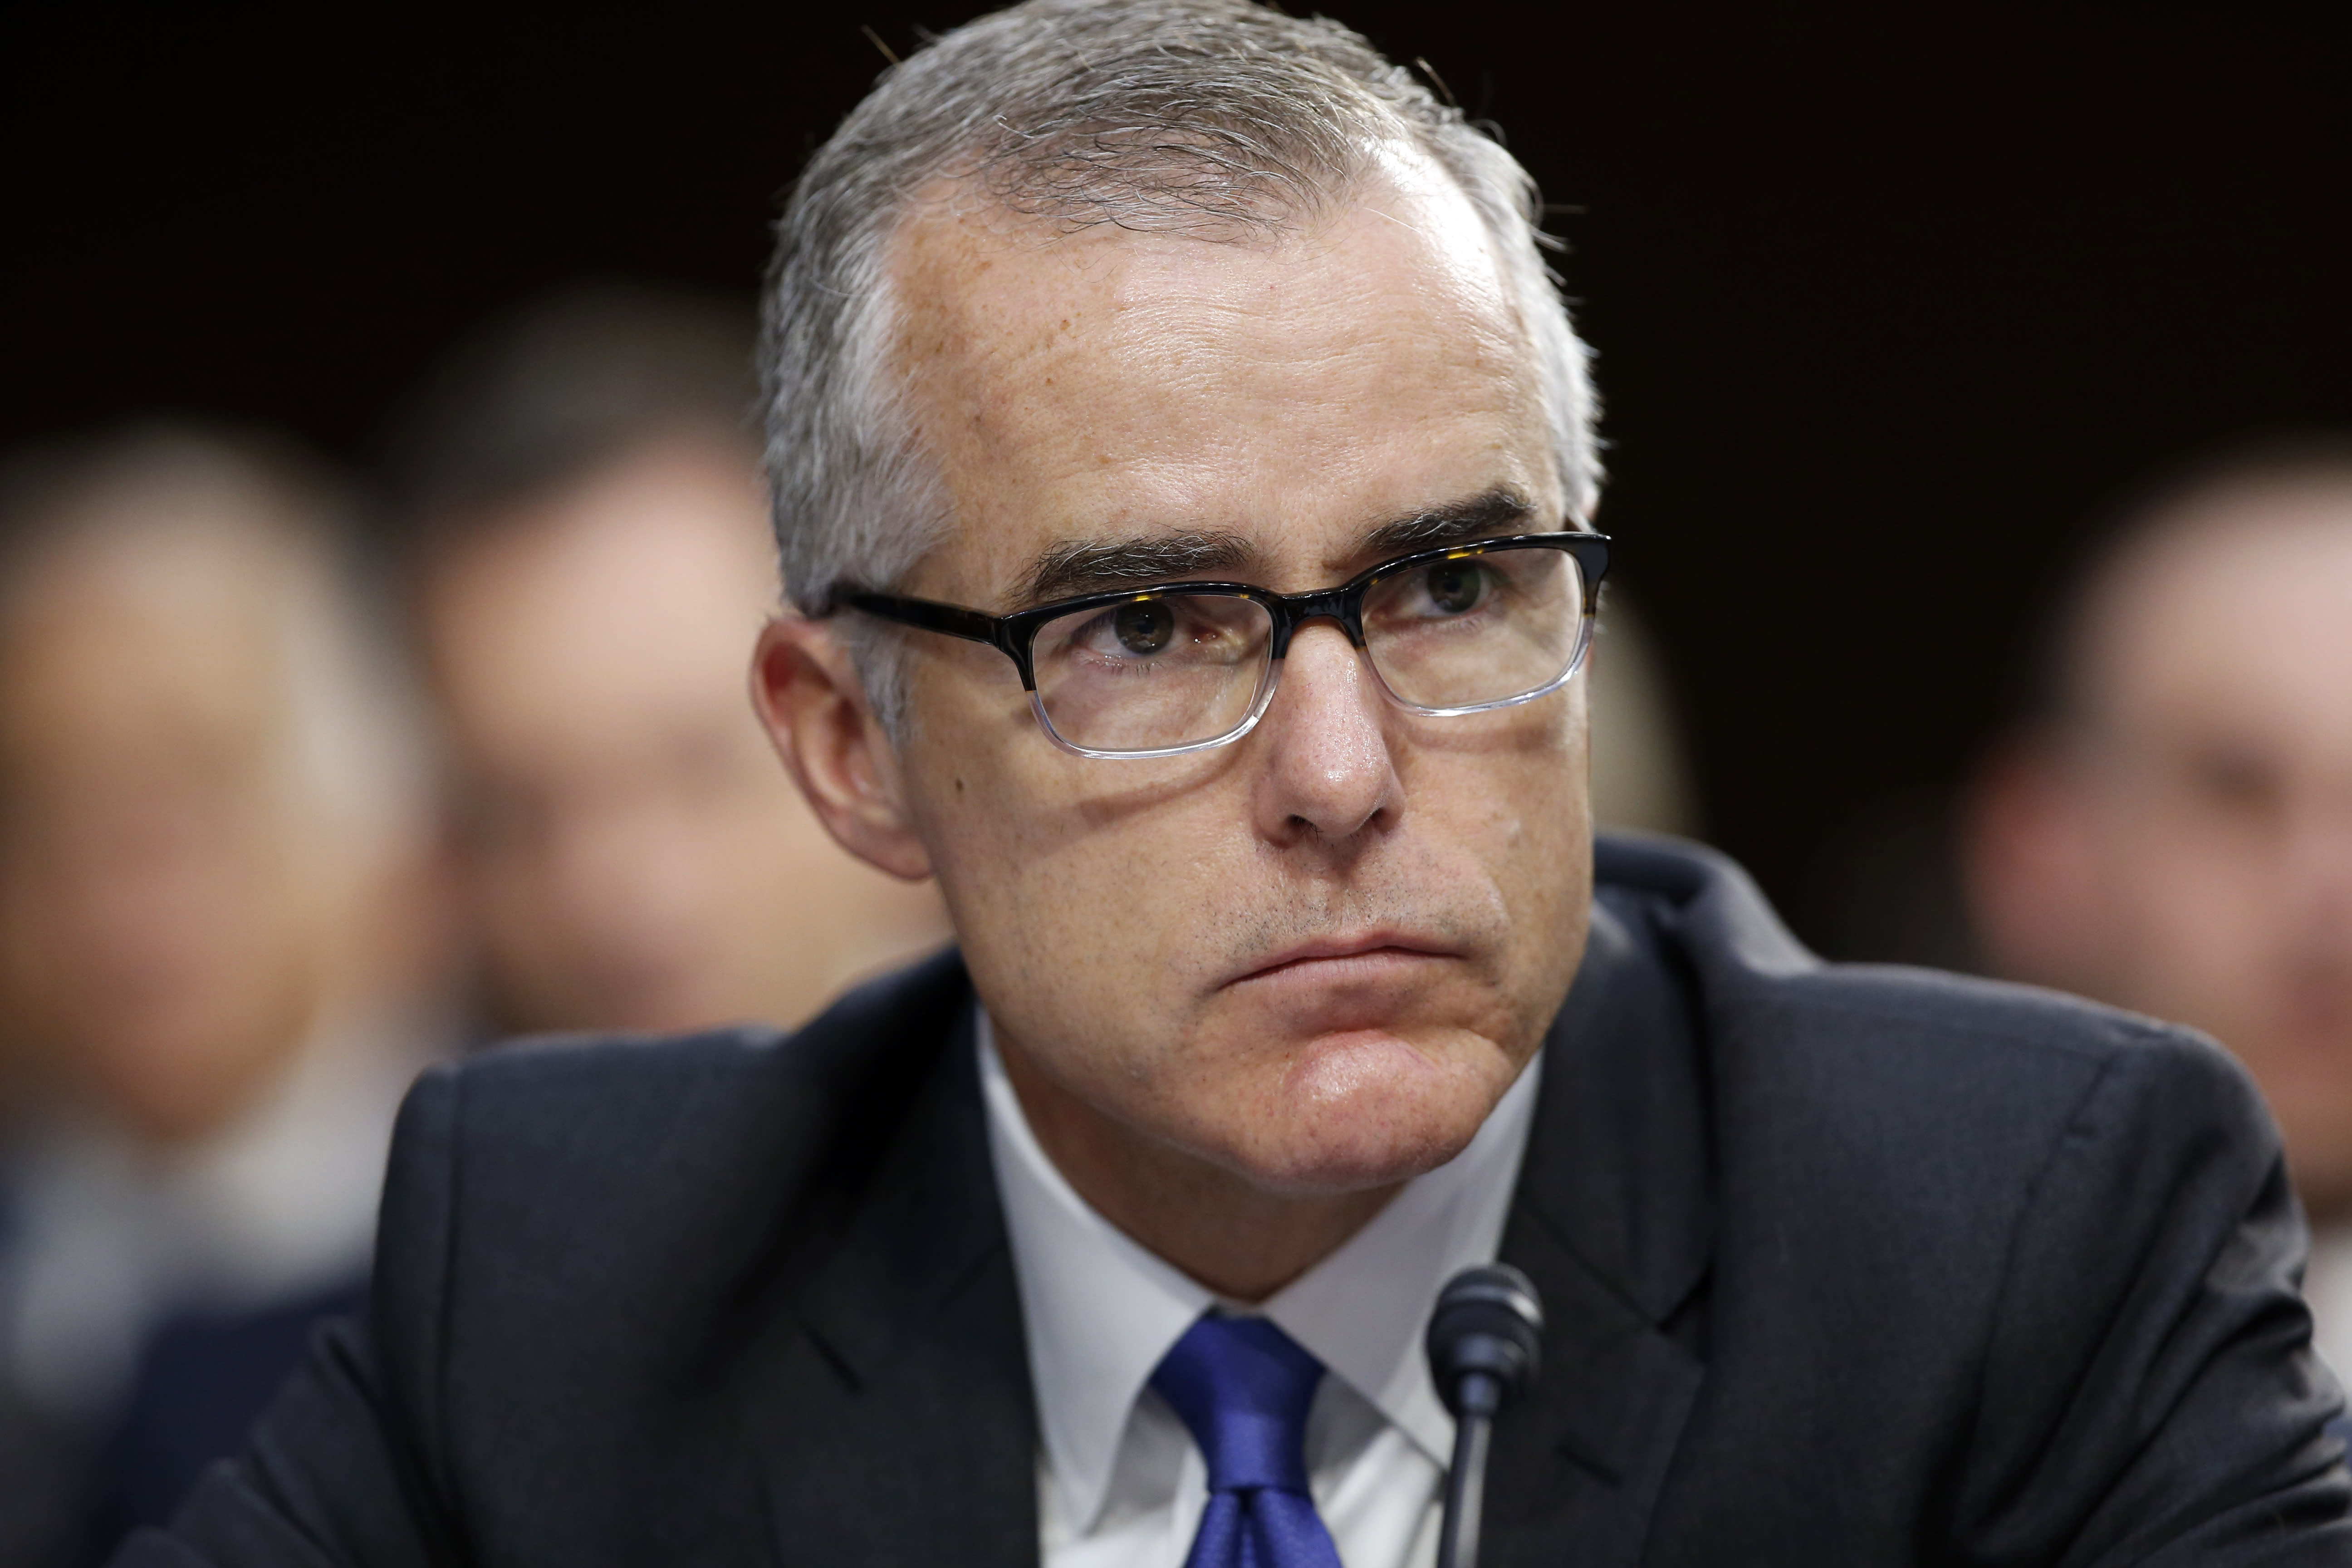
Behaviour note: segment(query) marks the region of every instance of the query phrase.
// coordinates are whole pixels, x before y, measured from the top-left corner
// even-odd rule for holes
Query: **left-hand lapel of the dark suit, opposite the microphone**
[[[969,987],[941,1025],[856,1206],[802,1253],[814,1284],[783,1281],[748,1380],[783,1563],[1037,1561],[1037,1415]]]

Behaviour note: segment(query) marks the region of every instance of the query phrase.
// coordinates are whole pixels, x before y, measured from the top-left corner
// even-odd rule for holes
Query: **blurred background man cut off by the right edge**
[[[2216,1034],[2253,1072],[2352,1368],[2352,449],[2180,487],[2093,562],[2046,712],[1987,759],[1969,891],[2004,973]]]

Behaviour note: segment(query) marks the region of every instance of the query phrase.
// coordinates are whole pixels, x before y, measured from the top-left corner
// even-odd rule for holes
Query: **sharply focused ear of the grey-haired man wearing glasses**
[[[898,750],[830,628],[800,616],[769,621],[750,661],[750,701],[816,820],[842,849],[891,877],[931,875],[931,856],[906,811]]]

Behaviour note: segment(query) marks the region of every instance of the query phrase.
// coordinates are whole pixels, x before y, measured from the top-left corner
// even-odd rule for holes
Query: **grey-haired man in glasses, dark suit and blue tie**
[[[757,693],[960,954],[430,1079],[372,1326],[129,1561],[1428,1563],[1496,1255],[1486,1563],[2352,1561],[2225,1058],[1595,879],[1526,209],[1235,0],[884,78],[781,226]]]

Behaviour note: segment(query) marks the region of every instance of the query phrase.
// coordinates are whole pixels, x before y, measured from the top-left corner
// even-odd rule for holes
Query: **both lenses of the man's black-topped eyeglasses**
[[[1486,550],[1376,578],[1364,651],[1406,708],[1463,710],[1543,691],[1583,635],[1566,550]],[[1249,719],[1272,665],[1272,616],[1237,595],[1174,592],[1058,616],[1030,658],[1054,733],[1096,752],[1218,741]]]

